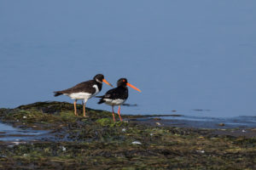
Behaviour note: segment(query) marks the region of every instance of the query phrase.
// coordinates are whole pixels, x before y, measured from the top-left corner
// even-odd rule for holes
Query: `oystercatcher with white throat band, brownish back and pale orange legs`
[[[69,96],[71,99],[74,99],[73,106],[74,106],[74,114],[78,116],[77,114],[77,101],[78,99],[84,99],[83,103],[83,110],[84,110],[84,116],[85,116],[85,104],[88,99],[92,98],[96,94],[98,94],[102,90],[102,82],[105,82],[109,86],[113,87],[112,84],[107,82],[107,80],[104,79],[104,76],[102,74],[97,74],[95,77],[93,77],[93,80],[87,81],[87,82],[80,82],[79,84],[75,85],[73,88],[67,88],[65,90],[56,91],[55,96],[59,96],[61,94]]]

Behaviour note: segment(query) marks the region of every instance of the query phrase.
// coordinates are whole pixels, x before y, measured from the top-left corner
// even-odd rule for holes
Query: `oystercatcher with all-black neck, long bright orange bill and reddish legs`
[[[127,86],[130,86],[131,88],[134,88],[137,91],[141,92],[140,89],[134,87],[129,82],[127,82],[126,78],[120,78],[119,81],[117,82],[117,88],[113,88],[111,90],[108,90],[108,92],[103,96],[96,96],[96,98],[102,98],[102,99],[100,99],[98,104],[105,103],[107,105],[112,106],[112,113],[113,113],[113,121],[114,122],[115,122],[114,111],[113,111],[113,106],[114,105],[119,105],[118,114],[119,114],[120,121],[122,121],[122,117],[120,116],[120,105],[125,103],[125,100],[128,98],[128,88],[127,88]]]

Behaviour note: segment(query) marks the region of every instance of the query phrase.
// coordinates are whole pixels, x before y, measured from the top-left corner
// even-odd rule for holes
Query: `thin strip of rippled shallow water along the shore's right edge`
[[[154,126],[171,126],[171,127],[194,127],[208,129],[232,129],[237,130],[236,133],[253,133],[255,136],[256,117],[255,116],[237,116],[237,117],[202,117],[202,116],[183,116],[183,115],[168,115],[168,116],[146,116],[137,118],[133,121],[140,123],[149,123]]]

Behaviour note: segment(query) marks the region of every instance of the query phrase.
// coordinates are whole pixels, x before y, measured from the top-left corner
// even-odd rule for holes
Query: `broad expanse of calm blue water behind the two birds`
[[[72,102],[52,92],[103,73],[143,91],[130,89],[127,103],[138,106],[123,114],[255,116],[255,8],[253,0],[2,0],[0,107]],[[87,106],[110,111],[96,101]]]

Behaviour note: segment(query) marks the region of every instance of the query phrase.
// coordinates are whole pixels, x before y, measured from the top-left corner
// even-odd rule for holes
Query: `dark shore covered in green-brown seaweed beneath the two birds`
[[[82,106],[78,105],[82,113]],[[1,122],[44,130],[42,138],[1,140],[0,169],[255,169],[256,129],[168,126],[166,120],[123,116],[87,108],[74,116],[73,105],[38,102],[0,109]],[[234,135],[233,135],[234,134]],[[15,134],[16,135],[16,134]]]

